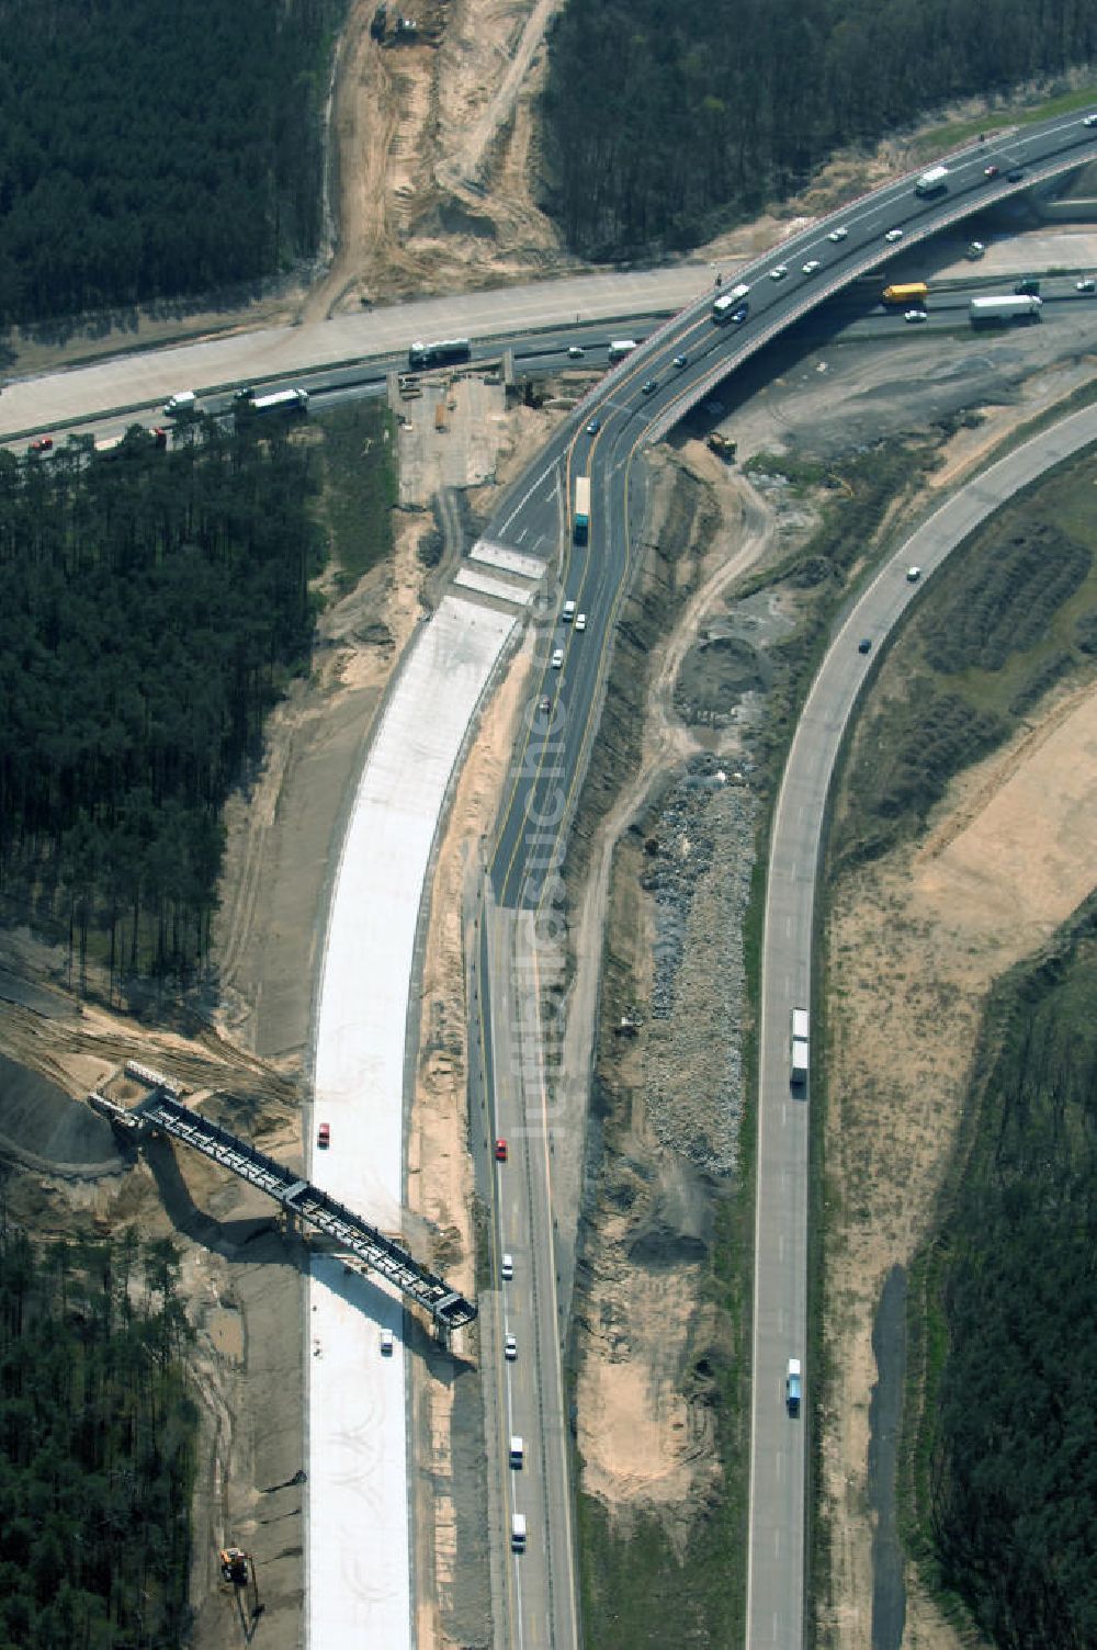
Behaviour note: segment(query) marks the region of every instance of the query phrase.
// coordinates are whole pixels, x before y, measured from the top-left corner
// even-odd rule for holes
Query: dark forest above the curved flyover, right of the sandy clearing
[[[693,246],[838,145],[1095,56],[1097,8],[1077,0],[569,0],[546,206],[586,256]]]

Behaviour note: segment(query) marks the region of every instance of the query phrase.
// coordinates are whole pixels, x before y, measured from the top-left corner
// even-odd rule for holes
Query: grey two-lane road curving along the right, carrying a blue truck
[[[963,540],[1044,470],[1097,441],[1087,408],[1010,452],[942,505],[879,569],[820,667],[789,752],[774,832],[762,949],[751,1426],[749,1650],[802,1643],[803,1487],[812,1416],[807,1366],[808,1104],[789,1082],[793,1008],[812,1002],[820,832],[838,747],[879,647],[924,582]],[[911,566],[922,569],[907,582]],[[868,640],[871,650],[859,652]],[[805,1368],[798,1419],[785,1409],[789,1358]]]

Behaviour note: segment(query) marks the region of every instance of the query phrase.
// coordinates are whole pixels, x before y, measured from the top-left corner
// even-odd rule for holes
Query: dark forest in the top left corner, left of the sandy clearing
[[[345,0],[0,0],[0,323],[262,277],[320,234]]]

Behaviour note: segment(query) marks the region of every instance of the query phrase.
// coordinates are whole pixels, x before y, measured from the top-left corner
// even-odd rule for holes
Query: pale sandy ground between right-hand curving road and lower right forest
[[[887,688],[887,667],[881,686]],[[955,1137],[983,998],[1094,886],[1097,690],[1064,695],[957,780],[916,848],[836,891],[826,936],[833,1427],[825,1500],[836,1642],[871,1650],[868,1402],[873,1313],[887,1270],[927,1229]],[[906,1645],[957,1635],[907,1576]]]

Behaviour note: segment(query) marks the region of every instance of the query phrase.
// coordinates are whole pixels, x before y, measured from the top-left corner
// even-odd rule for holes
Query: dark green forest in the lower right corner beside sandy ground
[[[942,1584],[995,1643],[1082,1650],[1097,1643],[1097,901],[1015,970],[988,1025],[1001,1048],[929,1264],[945,1355],[919,1500]]]

